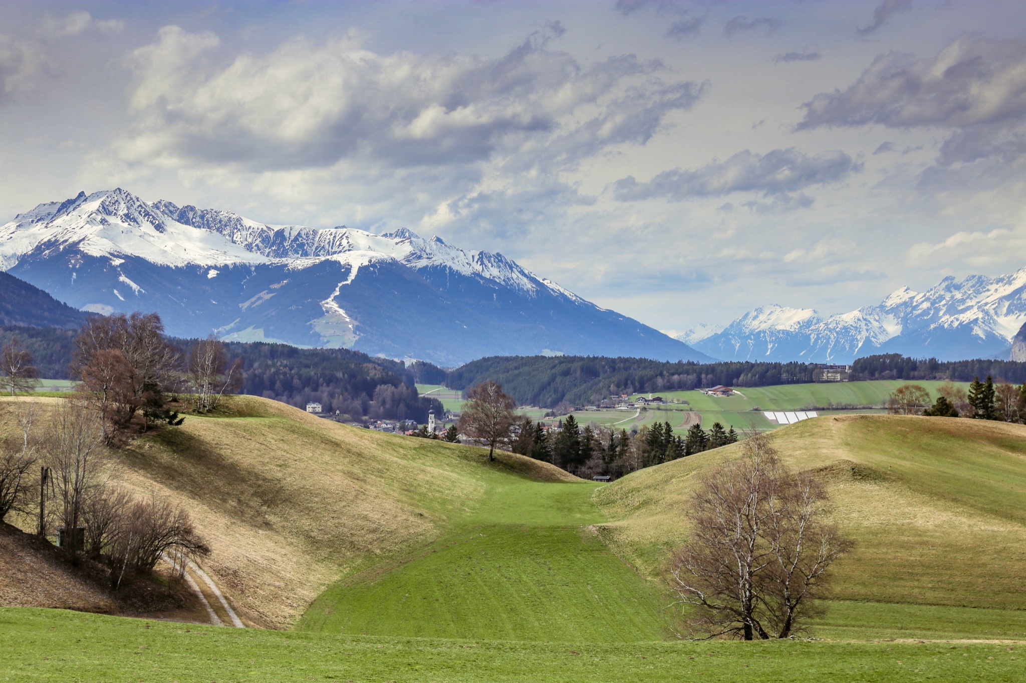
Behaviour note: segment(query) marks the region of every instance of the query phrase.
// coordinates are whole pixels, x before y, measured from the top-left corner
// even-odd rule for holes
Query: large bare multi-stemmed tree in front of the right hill
[[[688,518],[693,535],[671,571],[692,627],[745,640],[787,638],[814,612],[827,570],[851,548],[826,519],[826,492],[777,457],[766,434],[708,475]]]

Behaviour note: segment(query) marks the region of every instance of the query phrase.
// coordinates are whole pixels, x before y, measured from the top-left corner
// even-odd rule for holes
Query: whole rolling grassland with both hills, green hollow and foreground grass
[[[1026,427],[850,415],[774,442],[857,541],[821,640],[678,635],[668,557],[738,445],[595,484],[240,396],[136,441],[123,480],[188,505],[208,572],[278,630],[3,608],[0,681],[1022,679]]]

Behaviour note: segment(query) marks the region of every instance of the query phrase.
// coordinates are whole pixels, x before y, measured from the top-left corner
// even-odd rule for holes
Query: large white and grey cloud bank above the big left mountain
[[[235,165],[251,171],[361,159],[393,168],[501,157],[505,170],[552,172],[602,150],[645,142],[702,86],[666,81],[659,61],[614,56],[582,66],[550,48],[558,24],[505,55],[378,54],[356,37],[295,39],[206,72],[211,33],[160,30],[135,50],[131,111],[119,143],[131,162]]]

